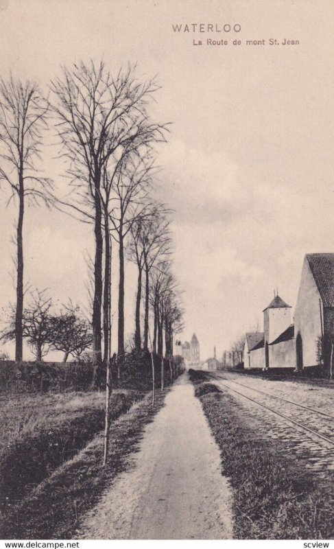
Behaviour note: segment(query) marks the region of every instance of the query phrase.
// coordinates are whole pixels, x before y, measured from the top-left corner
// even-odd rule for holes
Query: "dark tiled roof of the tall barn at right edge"
[[[306,257],[324,307],[334,307],[334,253],[309,253]]]

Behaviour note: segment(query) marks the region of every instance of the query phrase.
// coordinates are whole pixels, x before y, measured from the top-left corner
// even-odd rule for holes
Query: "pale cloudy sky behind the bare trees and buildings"
[[[138,78],[157,75],[150,112],[171,125],[158,150],[156,197],[174,209],[180,338],[195,332],[202,360],[261,329],[277,288],[294,309],[305,253],[333,252],[333,20],[326,0],[0,0],[4,78],[12,71],[47,90],[61,65],[102,57],[112,72],[137,62]],[[174,32],[181,23],[191,32]],[[49,147],[45,175],[62,187],[53,156]],[[14,301],[16,216],[1,189],[0,309]],[[92,244],[90,226],[29,209],[26,283],[85,307]],[[134,266],[126,277],[130,337]]]

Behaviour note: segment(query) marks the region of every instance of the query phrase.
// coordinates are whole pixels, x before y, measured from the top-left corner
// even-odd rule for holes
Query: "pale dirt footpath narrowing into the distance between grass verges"
[[[82,539],[230,539],[230,489],[187,373],[147,425],[134,467],[82,521]]]

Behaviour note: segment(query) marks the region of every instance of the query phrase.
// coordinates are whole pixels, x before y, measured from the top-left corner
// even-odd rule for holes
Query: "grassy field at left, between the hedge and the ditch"
[[[110,417],[117,419],[143,398],[115,390]],[[0,399],[1,523],[43,480],[84,448],[104,426],[103,393],[19,395]]]

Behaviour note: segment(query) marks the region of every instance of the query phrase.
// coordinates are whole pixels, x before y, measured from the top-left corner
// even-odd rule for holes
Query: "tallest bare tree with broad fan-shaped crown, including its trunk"
[[[64,68],[62,78],[51,83],[61,154],[69,161],[68,174],[74,190],[74,195],[62,204],[86,215],[94,224],[93,382],[102,362],[104,173],[112,160],[115,163],[123,156],[124,149],[147,121],[147,103],[158,89],[154,80],[143,84],[136,80],[134,69],[129,66],[112,76],[103,61],[98,65],[93,61],[80,62],[71,70]]]

